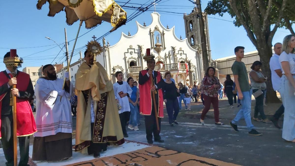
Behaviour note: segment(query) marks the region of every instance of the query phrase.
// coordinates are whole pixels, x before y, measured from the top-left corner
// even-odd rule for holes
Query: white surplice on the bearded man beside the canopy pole
[[[62,97],[63,79],[47,80],[38,79],[35,85],[36,96],[36,126],[34,136],[50,136],[58,132],[72,133],[72,112],[69,99],[72,93],[65,92]],[[70,83],[70,92],[73,92]],[[61,97],[61,100],[60,100]]]

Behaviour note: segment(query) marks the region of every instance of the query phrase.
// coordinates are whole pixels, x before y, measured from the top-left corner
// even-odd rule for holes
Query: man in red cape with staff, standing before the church
[[[163,92],[162,89],[152,89],[152,85],[164,81],[161,77],[161,73],[154,71],[155,69],[155,56],[150,55],[150,49],[147,49],[146,56],[144,57],[147,61],[148,69],[139,72],[139,90],[140,90],[140,114],[145,115],[145,131],[146,138],[149,144],[153,144],[153,135],[156,142],[164,142],[160,136],[161,130],[161,118],[164,117],[163,113]],[[153,78],[151,82],[150,77]],[[155,93],[153,95],[152,93]],[[155,98],[153,98],[155,96]],[[155,99],[155,102],[154,102]],[[155,106],[157,110],[155,110]],[[157,115],[156,113],[157,112]],[[156,116],[158,118],[159,130],[157,129]]]

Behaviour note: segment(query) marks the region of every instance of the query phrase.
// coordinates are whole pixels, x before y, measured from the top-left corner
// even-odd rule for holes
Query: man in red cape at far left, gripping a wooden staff
[[[10,52],[4,58],[9,58]],[[16,72],[16,77],[12,76]],[[6,165],[14,165],[13,154],[13,118],[11,93],[17,96],[17,137],[19,138],[19,165],[27,165],[29,161],[30,135],[37,131],[29,98],[34,96],[30,75],[21,71],[6,69],[0,72],[0,138]],[[17,84],[17,80],[19,83]],[[16,88],[12,89],[12,85]]]

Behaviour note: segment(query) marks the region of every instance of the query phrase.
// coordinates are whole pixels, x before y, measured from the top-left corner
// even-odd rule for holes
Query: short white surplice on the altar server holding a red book
[[[130,97],[132,94],[132,89],[126,81],[123,81],[122,85],[118,84],[117,82],[114,83],[115,98],[119,100],[119,103],[122,106],[121,110],[119,110],[119,113],[130,111],[128,97],[125,96],[125,97],[121,98],[119,95],[119,92],[121,92],[121,91],[123,93],[128,93]]]

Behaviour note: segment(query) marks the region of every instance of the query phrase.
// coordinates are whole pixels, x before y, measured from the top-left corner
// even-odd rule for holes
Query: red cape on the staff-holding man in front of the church
[[[141,74],[144,76],[148,71],[142,70],[140,71]],[[157,83],[161,81],[161,73],[157,72]],[[151,90],[152,82],[148,79],[143,85],[139,85],[139,92],[140,92],[140,114],[142,115],[151,115],[152,113],[152,90]],[[159,105],[158,105],[158,117],[164,117],[163,111],[163,93],[162,90],[158,90],[158,93],[155,94],[159,97]]]

